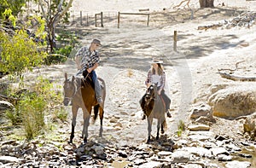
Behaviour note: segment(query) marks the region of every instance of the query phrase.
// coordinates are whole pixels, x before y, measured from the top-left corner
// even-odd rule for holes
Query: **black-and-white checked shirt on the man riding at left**
[[[88,47],[82,47],[79,49],[76,56],[79,57],[81,62],[81,69],[79,72],[84,72],[86,69],[93,67],[96,63],[100,62],[100,56],[96,50],[90,52]]]

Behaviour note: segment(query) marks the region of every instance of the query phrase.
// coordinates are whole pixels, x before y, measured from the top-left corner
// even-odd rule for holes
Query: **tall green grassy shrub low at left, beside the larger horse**
[[[63,100],[61,91],[58,91],[60,86],[39,77],[35,84],[29,87],[31,90],[26,90],[21,95],[17,95],[14,90],[14,93],[9,94],[19,97],[19,101],[15,105],[15,111],[8,111],[6,116],[13,125],[22,125],[26,138],[32,139],[42,134],[43,130],[51,129],[52,121],[65,121],[67,112],[63,107],[57,106]]]

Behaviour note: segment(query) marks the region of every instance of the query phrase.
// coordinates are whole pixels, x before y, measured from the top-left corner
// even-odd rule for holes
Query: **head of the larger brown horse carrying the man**
[[[74,76],[72,79],[67,78],[67,73],[65,73],[65,81],[63,84],[63,90],[64,90],[64,101],[63,104],[64,106],[67,106],[69,102],[73,99],[73,96],[75,95],[76,92],[76,84],[75,84],[75,78]]]

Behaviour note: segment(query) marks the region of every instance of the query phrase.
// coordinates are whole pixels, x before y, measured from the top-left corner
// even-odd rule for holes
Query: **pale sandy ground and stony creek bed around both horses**
[[[54,140],[43,137],[32,142],[7,140],[4,136],[9,133],[1,131],[0,165],[255,167],[256,144],[243,134],[244,119],[211,118],[211,110],[197,125],[190,118],[191,112],[209,109],[208,99],[219,85],[250,88],[255,84],[222,78],[218,73],[219,69],[229,72],[241,62],[232,74],[256,77],[256,46],[253,43],[256,26],[255,10],[252,9],[255,4],[251,2],[250,5],[250,8],[195,9],[193,17],[189,9],[166,8],[152,12],[149,26],[141,20],[125,18],[119,29],[116,20],[104,27],[70,27],[79,34],[86,33],[86,37],[80,37],[83,44],[90,43],[92,38],[102,40],[102,64],[97,74],[107,84],[103,137],[98,137],[99,121],[96,120],[96,124],[89,127],[89,142],[81,145],[82,120],[79,119],[74,144],[67,144],[71,116],[56,130],[55,135],[59,138]],[[177,52],[172,45],[174,30],[178,37]],[[165,62],[172,118],[167,119],[168,130],[158,141],[154,140],[154,123],[153,142],[146,144],[147,122],[140,119],[142,111],[138,100],[145,90],[143,81],[152,57],[160,57]],[[40,74],[61,84],[64,72],[71,76],[76,71],[73,61],[67,61],[64,65],[44,67],[35,72],[27,76]],[[67,111],[71,115],[70,107]],[[185,124],[182,133],[177,131],[181,121]]]

